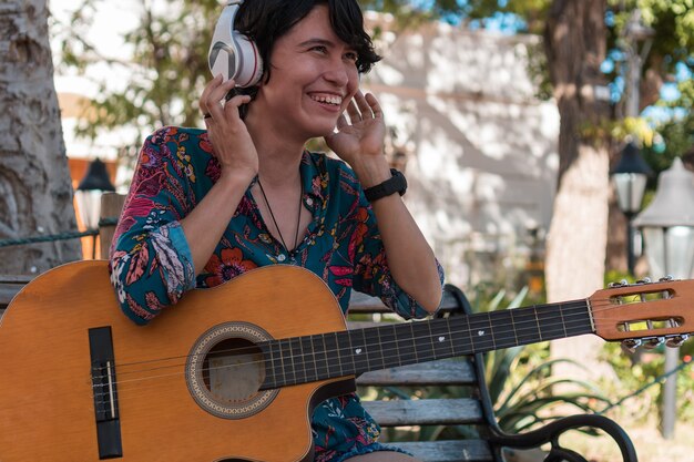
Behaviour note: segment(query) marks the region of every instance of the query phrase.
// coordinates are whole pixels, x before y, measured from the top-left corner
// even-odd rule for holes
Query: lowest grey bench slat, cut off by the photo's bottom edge
[[[386,444],[400,448],[427,462],[493,461],[489,444],[483,440],[408,441]]]

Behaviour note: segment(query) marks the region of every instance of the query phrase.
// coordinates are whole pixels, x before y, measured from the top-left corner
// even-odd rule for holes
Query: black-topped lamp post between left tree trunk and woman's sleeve
[[[86,174],[78,185],[74,192],[74,198],[80,209],[80,218],[86,229],[96,229],[99,227],[99,217],[101,215],[101,195],[106,191],[115,191],[115,187],[109,178],[106,164],[99,158],[90,162]],[[96,236],[94,236],[92,248],[92,258],[96,255]]]

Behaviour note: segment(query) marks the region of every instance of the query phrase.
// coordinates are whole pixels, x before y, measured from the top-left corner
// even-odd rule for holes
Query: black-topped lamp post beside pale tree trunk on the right
[[[634,232],[632,218],[641,211],[646,181],[653,171],[645,163],[634,143],[627,143],[622,157],[610,175],[614,182],[620,211],[626,216],[626,267],[634,274]]]

